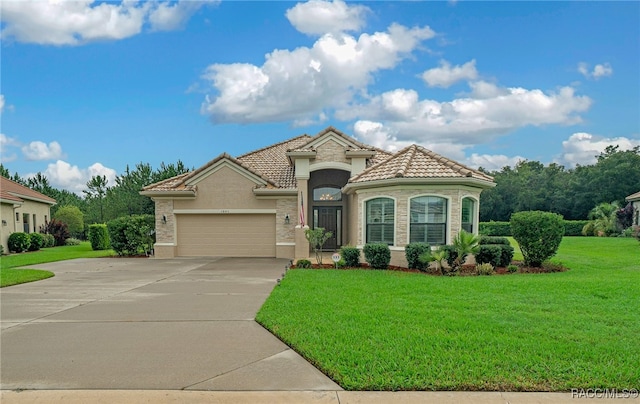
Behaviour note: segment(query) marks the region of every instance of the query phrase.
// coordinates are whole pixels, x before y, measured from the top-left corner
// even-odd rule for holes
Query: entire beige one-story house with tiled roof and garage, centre
[[[410,242],[477,233],[493,178],[412,145],[390,153],[329,127],[145,187],[155,201],[155,256],[309,257],[305,228],[333,233],[325,250],[386,243],[406,265]]]

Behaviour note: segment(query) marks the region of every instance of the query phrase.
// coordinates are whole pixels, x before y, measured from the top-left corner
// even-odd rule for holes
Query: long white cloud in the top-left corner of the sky
[[[139,34],[145,24],[152,30],[178,28],[206,3],[209,2],[3,1],[1,38],[41,45],[118,40]]]

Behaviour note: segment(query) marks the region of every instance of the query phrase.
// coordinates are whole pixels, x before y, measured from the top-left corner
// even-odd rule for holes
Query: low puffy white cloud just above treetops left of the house
[[[87,189],[87,182],[93,176],[105,175],[109,185],[114,184],[116,179],[116,171],[105,167],[101,163],[94,163],[87,168],[80,168],[63,160],[49,164],[43,174],[49,179],[52,186],[66,189],[76,194],[81,194],[83,190]]]

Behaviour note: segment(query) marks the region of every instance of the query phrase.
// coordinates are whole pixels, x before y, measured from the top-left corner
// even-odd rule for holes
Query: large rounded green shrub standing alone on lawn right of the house
[[[511,215],[510,223],[526,265],[540,267],[558,251],[564,234],[561,215],[539,210],[517,212]]]

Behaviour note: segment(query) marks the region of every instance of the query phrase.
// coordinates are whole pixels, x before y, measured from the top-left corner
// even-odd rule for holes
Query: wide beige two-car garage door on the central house
[[[275,214],[176,215],[178,255],[275,257]]]

